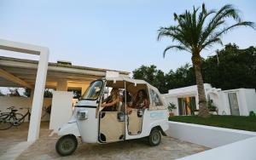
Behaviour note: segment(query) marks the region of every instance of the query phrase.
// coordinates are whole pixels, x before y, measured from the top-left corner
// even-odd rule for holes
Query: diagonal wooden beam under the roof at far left
[[[18,83],[18,84],[20,84],[23,87],[26,87],[26,88],[29,88],[29,89],[33,89],[31,84],[26,83],[25,81],[23,81],[19,77],[15,77],[15,75],[10,74],[8,71],[4,71],[2,68],[0,68],[0,77],[8,79],[9,81],[11,81],[13,83]]]

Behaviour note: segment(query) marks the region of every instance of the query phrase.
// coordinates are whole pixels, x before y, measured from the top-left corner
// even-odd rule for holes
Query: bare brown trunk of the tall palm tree
[[[192,55],[192,63],[195,68],[195,79],[197,85],[198,99],[199,99],[199,117],[209,117],[210,113],[207,107],[207,99],[204,88],[204,82],[201,76],[201,56],[200,54]]]

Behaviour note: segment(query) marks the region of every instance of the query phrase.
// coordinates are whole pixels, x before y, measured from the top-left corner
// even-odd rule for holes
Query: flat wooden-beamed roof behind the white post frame
[[[33,86],[36,81],[38,60],[24,60],[0,56],[0,68]],[[90,83],[96,79],[106,77],[106,71],[117,70],[108,70],[87,66],[73,66],[62,63],[49,62],[46,77],[46,88],[55,89],[57,82],[63,80],[67,80],[68,88],[77,88],[76,86],[81,86],[84,83]],[[119,72],[119,75],[123,77],[128,77],[130,74],[128,71],[117,72]],[[20,86],[20,84],[9,81],[0,75],[0,87],[22,86]]]

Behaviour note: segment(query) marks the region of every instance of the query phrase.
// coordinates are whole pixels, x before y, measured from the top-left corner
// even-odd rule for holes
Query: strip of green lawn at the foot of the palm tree
[[[198,116],[174,116],[169,117],[169,121],[256,132],[256,117],[212,115],[208,118],[202,118]]]

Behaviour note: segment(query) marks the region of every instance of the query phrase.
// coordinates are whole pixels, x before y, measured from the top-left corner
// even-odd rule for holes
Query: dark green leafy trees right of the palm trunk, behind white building
[[[239,49],[229,43],[217,54],[218,59],[214,55],[202,62],[202,74],[207,83],[220,89],[256,89],[255,47]]]

